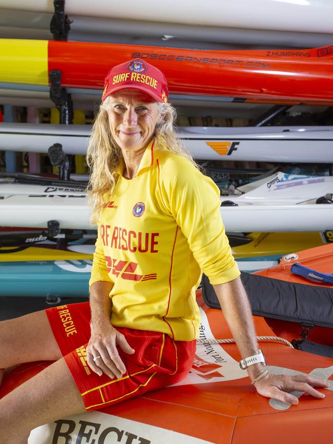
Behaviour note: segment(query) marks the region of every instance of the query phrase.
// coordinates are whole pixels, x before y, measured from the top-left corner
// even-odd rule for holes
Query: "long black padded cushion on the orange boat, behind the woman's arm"
[[[241,273],[241,280],[254,315],[333,328],[333,288],[249,273]],[[209,307],[220,309],[214,288],[204,275],[202,296]]]

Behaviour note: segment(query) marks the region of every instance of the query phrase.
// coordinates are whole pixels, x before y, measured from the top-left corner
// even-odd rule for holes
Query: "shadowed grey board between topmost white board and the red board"
[[[19,11],[0,9],[0,37],[52,40],[50,31],[51,13],[37,11]],[[71,14],[69,40],[95,41],[105,43],[138,45],[174,46],[198,48],[200,42],[208,42],[214,49],[213,42],[222,49],[235,49],[250,46],[260,48],[316,48],[330,45],[332,36],[314,32],[267,31],[263,29],[226,28],[216,26],[165,23],[127,18],[85,17]],[[139,39],[138,37],[141,37]],[[145,38],[145,40],[143,40]],[[154,42],[155,40],[155,42]],[[150,42],[150,43],[149,43]],[[255,48],[254,48],[255,49]]]

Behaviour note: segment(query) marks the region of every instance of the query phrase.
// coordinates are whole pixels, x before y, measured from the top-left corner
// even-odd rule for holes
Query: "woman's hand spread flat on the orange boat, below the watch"
[[[304,392],[315,398],[324,398],[324,393],[314,389],[314,387],[327,388],[330,383],[324,379],[318,379],[309,375],[274,375],[267,373],[266,376],[254,383],[257,392],[268,398],[279,399],[283,403],[298,404],[298,398],[288,392]]]

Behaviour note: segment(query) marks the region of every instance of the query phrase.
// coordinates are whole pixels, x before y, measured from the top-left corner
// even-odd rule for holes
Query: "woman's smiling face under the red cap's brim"
[[[148,94],[124,89],[110,95],[108,108],[111,133],[122,151],[147,146],[161,120],[158,102]]]

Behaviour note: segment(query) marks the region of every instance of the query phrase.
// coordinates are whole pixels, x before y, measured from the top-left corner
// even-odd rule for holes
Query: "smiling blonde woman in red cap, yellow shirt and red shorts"
[[[167,99],[164,75],[143,60],[106,78],[87,156],[98,223],[90,305],[0,323],[0,368],[55,361],[0,400],[0,444],[26,442],[41,424],[183,378],[198,335],[201,271],[242,357],[250,357],[242,364],[257,391],[291,404],[298,399],[284,390],[323,397],[312,387],[326,387],[320,379],[265,371],[219,190],[182,149]]]

